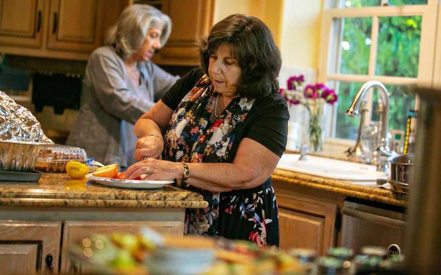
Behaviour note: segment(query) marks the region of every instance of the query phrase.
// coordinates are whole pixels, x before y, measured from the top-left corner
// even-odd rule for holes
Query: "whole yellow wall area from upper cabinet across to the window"
[[[273,32],[284,66],[318,68],[324,0],[215,0],[213,22],[244,13]]]

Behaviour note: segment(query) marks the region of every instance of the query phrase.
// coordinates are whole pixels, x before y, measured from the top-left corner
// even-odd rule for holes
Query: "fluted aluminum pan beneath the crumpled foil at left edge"
[[[0,140],[0,170],[32,172],[42,145],[48,144]]]

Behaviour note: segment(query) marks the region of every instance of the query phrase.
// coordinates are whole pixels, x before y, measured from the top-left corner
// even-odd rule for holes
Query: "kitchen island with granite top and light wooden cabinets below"
[[[146,227],[182,237],[185,209],[207,205],[201,195],[169,185],[108,187],[73,180],[66,173],[43,173],[34,183],[1,181],[0,254],[16,259],[9,269],[14,274],[31,273],[23,270],[77,274],[79,267],[71,262],[69,247],[83,238],[139,234]]]

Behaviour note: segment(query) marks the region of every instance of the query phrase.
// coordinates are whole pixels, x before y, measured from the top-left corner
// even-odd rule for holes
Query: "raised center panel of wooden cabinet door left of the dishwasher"
[[[279,208],[280,249],[309,248],[321,251],[325,219]]]

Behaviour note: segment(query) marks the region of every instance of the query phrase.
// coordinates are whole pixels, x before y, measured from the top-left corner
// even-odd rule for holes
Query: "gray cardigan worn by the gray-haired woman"
[[[141,85],[136,87],[112,46],[94,50],[87,62],[81,107],[67,145],[83,148],[88,157],[103,164],[127,168],[136,162],[134,123],[178,78],[151,61],[139,62],[138,68]]]

